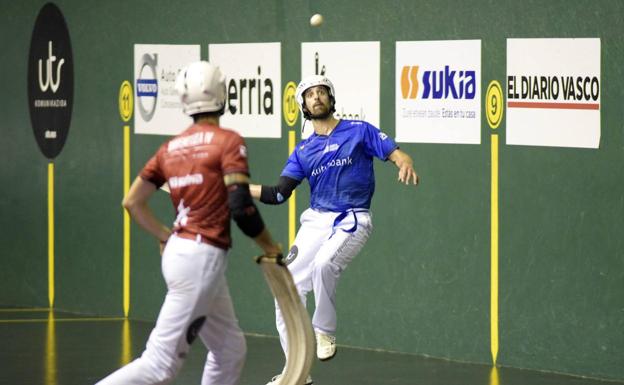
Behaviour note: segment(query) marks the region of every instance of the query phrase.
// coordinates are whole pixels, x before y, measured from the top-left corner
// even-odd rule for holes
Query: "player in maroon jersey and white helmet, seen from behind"
[[[123,200],[130,216],[161,242],[167,295],[141,357],[98,385],[167,384],[198,336],[209,351],[201,384],[238,383],[246,345],[225,278],[230,215],[265,254],[281,252],[249,193],[245,143],[219,127],[225,77],[207,62],[192,63],[178,75],[176,89],[194,124],[158,149]],[[164,183],[177,213],[172,229],[147,205]]]

